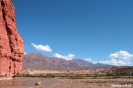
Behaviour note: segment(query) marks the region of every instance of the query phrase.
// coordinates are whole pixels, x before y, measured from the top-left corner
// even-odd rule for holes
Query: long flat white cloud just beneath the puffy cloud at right
[[[116,60],[116,59],[111,59],[108,61],[100,61],[100,63],[103,64],[110,64],[110,65],[115,65],[115,66],[122,66],[122,65],[129,65],[130,62],[129,61],[124,61],[124,60]]]

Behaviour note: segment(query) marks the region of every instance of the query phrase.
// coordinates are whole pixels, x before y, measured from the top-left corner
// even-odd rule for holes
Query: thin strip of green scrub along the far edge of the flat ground
[[[15,77],[37,77],[37,78],[67,78],[67,79],[116,79],[133,78],[132,75],[123,74],[72,74],[72,73],[51,73],[51,74],[23,74]]]

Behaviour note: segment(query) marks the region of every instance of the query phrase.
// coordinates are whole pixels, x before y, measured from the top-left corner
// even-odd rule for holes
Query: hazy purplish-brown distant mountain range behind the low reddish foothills
[[[64,60],[62,58],[47,57],[40,53],[28,53],[23,58],[23,69],[36,70],[95,70],[107,69],[112,65],[93,64],[82,59]]]

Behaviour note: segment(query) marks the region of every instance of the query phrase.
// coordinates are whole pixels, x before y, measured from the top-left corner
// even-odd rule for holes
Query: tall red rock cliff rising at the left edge
[[[0,0],[0,75],[12,76],[21,72],[24,42],[17,31],[14,5]]]

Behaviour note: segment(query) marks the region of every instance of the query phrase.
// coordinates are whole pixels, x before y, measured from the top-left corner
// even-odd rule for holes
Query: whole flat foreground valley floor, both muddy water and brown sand
[[[42,84],[35,86],[38,80]],[[13,79],[1,80],[0,88],[133,88],[133,79]]]

